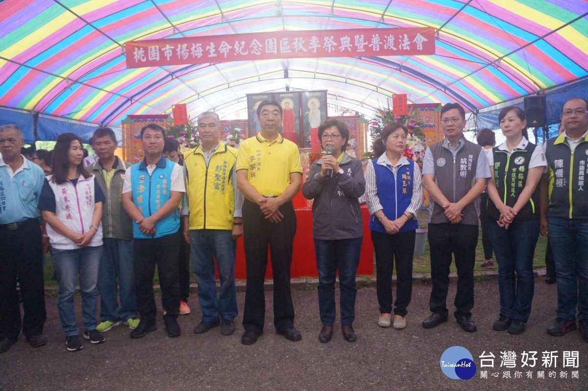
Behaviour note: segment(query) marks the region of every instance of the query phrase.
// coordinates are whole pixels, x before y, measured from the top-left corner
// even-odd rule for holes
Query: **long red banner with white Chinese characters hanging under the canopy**
[[[127,68],[285,58],[435,54],[435,28],[274,31],[125,43]]]

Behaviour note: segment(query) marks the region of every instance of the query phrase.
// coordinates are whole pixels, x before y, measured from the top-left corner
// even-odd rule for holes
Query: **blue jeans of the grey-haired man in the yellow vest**
[[[233,320],[238,314],[235,289],[235,253],[237,242],[228,229],[190,230],[192,269],[198,283],[202,321],[213,323],[221,316]],[[215,259],[220,275],[216,293]]]

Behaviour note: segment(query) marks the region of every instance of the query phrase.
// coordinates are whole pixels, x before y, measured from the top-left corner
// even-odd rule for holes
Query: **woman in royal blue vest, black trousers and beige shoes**
[[[415,252],[416,213],[423,205],[419,165],[406,159],[406,126],[392,122],[374,142],[375,158],[366,167],[366,200],[376,253],[376,291],[380,327],[392,323],[392,273],[396,263],[395,329],[406,327],[406,307],[412,296],[412,260]],[[382,148],[383,147],[383,148]]]

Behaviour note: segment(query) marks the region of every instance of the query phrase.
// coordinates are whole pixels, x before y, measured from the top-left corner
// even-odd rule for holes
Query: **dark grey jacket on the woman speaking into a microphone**
[[[315,239],[355,239],[363,236],[362,212],[358,198],[366,189],[362,162],[345,154],[341,175],[322,178],[319,159],[310,166],[302,194],[315,199],[312,204],[312,233]]]

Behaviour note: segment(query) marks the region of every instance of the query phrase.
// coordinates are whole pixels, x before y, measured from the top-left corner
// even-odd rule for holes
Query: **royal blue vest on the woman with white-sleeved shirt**
[[[383,212],[389,220],[396,220],[405,212],[412,198],[413,175],[415,162],[409,161],[408,165],[400,166],[396,172],[396,178],[392,169],[374,162],[373,169],[376,172],[377,198],[380,199]],[[369,228],[377,232],[386,233],[386,229],[376,216],[369,221]],[[399,232],[406,232],[419,228],[415,219],[408,220]]]

